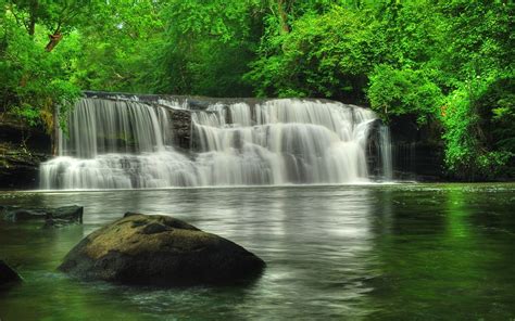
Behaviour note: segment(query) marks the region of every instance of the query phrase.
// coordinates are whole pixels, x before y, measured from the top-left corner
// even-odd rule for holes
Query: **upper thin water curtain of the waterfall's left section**
[[[135,101],[83,99],[68,118],[61,155],[91,158],[106,153],[148,153],[171,143],[165,108]]]

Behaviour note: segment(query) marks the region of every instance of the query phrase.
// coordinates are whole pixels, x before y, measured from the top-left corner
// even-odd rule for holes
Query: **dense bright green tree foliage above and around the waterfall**
[[[0,8],[1,108],[30,124],[51,128],[53,106],[64,115],[86,89],[329,98],[430,127],[455,177],[515,176],[508,0],[0,0]]]

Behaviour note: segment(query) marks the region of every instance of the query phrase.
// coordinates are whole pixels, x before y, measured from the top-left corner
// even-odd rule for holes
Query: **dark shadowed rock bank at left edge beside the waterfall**
[[[37,189],[39,164],[51,153],[50,137],[0,115],[0,190]]]

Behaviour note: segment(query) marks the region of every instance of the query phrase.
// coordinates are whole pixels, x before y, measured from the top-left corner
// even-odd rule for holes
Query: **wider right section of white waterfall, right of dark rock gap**
[[[368,179],[368,110],[340,103],[273,100],[213,105],[193,115],[203,182],[346,183]],[[229,118],[230,124],[227,124]]]

